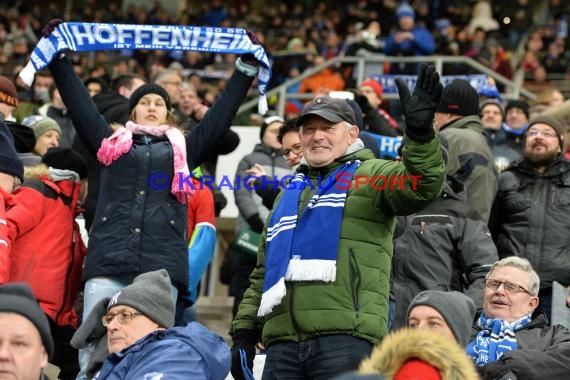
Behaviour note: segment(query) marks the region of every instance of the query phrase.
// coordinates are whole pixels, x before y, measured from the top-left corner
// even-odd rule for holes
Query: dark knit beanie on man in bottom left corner
[[[48,356],[52,357],[54,344],[49,322],[28,284],[13,282],[0,286],[0,313],[2,312],[20,314],[29,319],[38,329]]]

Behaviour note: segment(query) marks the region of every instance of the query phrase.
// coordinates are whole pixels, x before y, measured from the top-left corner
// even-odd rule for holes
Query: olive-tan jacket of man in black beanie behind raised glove
[[[485,222],[497,193],[497,171],[479,116],[453,120],[440,129],[447,140],[447,175],[465,185],[467,204]]]

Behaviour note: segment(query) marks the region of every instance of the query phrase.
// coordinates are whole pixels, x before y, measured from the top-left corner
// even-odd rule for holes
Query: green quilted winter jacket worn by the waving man
[[[336,281],[286,281],[287,293],[281,304],[265,317],[257,317],[265,273],[264,231],[257,266],[250,276],[252,283],[233,322],[234,331],[263,327],[262,339],[266,346],[332,334],[348,334],[372,344],[380,341],[387,331],[394,216],[415,212],[439,195],[445,173],[439,144],[437,138],[426,144],[408,140],[402,163],[375,159],[372,152],[362,149],[337,159],[326,168],[311,168],[308,176],[313,183],[318,175],[324,177],[326,183],[328,173],[344,162],[363,161],[347,193]],[[405,190],[397,185],[390,190],[390,184],[386,190],[375,190],[371,185],[356,188],[355,179],[359,176],[378,175],[387,178],[421,175],[422,178],[417,180],[415,190],[412,190],[412,180],[404,182]],[[375,187],[382,187],[382,181],[379,179]],[[305,187],[300,211],[314,192],[309,186]]]

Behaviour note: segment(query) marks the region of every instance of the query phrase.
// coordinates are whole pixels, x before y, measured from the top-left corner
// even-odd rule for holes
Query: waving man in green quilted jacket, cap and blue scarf
[[[386,335],[395,216],[436,198],[445,172],[432,128],[439,75],[422,65],[413,94],[397,86],[401,162],[363,148],[346,101],[319,97],[303,109],[304,159],[269,215],[233,322],[234,378],[253,367],[258,342],[264,379],[328,379],[356,369]]]

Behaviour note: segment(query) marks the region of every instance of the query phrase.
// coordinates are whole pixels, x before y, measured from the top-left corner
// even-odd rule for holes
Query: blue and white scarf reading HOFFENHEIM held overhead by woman
[[[259,113],[265,115],[267,112],[265,92],[271,78],[271,64],[263,47],[254,45],[246,30],[239,28],[65,22],[59,24],[48,38],[40,39],[20,77],[31,86],[34,73],[45,68],[63,50],[115,49],[252,53],[261,63],[258,74]]]

